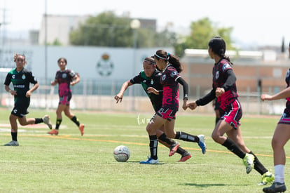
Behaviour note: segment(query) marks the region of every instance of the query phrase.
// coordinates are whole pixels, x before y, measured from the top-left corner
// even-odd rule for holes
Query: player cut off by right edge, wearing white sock
[[[289,44],[290,55],[290,44]],[[283,91],[275,95],[261,95],[261,100],[279,100],[286,98],[286,108],[279,120],[272,137],[272,149],[274,154],[275,182],[270,187],[264,187],[263,192],[285,192],[284,169],[286,155],[284,145],[290,139],[290,69],[286,73],[286,85]]]

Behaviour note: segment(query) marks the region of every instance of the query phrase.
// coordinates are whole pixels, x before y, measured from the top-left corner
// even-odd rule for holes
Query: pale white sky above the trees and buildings
[[[131,18],[157,20],[158,29],[173,23],[178,33],[190,32],[191,22],[209,18],[216,27],[233,27],[236,44],[280,46],[290,41],[289,0],[0,0],[0,22],[7,34],[40,29],[46,12],[53,15],[98,15],[114,11],[130,13]],[[0,34],[3,33],[3,25]]]

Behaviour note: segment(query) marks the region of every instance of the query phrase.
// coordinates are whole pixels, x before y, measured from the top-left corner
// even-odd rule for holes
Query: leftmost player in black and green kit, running
[[[39,88],[39,83],[36,78],[29,70],[25,69],[26,60],[24,54],[15,54],[14,61],[16,63],[16,68],[8,72],[4,85],[5,90],[14,96],[14,107],[11,111],[9,121],[11,124],[11,137],[12,141],[5,144],[5,146],[19,146],[17,135],[18,135],[18,124],[17,120],[22,126],[27,126],[29,124],[40,124],[45,123],[51,129],[52,125],[48,115],[43,118],[29,118],[26,119],[26,114],[28,114],[28,107],[30,103],[30,97],[37,88]],[[9,85],[13,84],[13,89],[9,88]],[[29,84],[34,84],[32,88],[29,88]]]

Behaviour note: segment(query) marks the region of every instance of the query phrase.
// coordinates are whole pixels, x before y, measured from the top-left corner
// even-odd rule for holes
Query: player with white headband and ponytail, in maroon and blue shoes
[[[202,149],[202,154],[206,152],[205,135],[191,135],[182,131],[174,131],[175,114],[179,109],[179,84],[184,88],[184,104],[183,108],[186,109],[186,102],[188,100],[188,84],[181,78],[181,64],[179,58],[175,55],[167,53],[164,50],[156,51],[154,55],[158,69],[162,70],[160,75],[160,83],[163,85],[163,102],[162,107],[158,109],[153,116],[152,121],[147,125],[146,131],[149,134],[149,147],[151,157],[146,161],[140,161],[140,164],[158,164],[157,156],[157,130],[164,125],[165,134],[169,138],[197,142]],[[155,89],[149,88],[149,93],[157,93]],[[172,146],[170,155],[174,154],[179,147],[178,143]]]

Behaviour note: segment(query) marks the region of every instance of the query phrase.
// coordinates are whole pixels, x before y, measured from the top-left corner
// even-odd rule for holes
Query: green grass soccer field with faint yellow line
[[[46,113],[30,111],[27,117]],[[177,114],[175,131],[205,134],[207,154],[196,143],[179,140],[193,155],[188,161],[177,162],[179,154],[168,157],[169,150],[159,145],[160,164],[140,165],[149,155],[145,128],[152,114],[75,113],[85,124],[83,137],[63,117],[57,136],[46,134],[49,129],[44,124],[20,127],[19,147],[0,146],[0,192],[262,192],[263,186],[257,185],[261,175],[254,170],[247,175],[242,160],[210,137],[214,115]],[[10,110],[0,112],[1,145],[11,140],[9,114]],[[55,125],[55,112],[48,114]],[[247,147],[271,171],[271,138],[278,119],[244,116],[241,120]],[[113,158],[118,145],[130,148],[125,163]],[[288,156],[289,149],[286,145]],[[290,185],[289,157],[286,161],[286,185]]]

